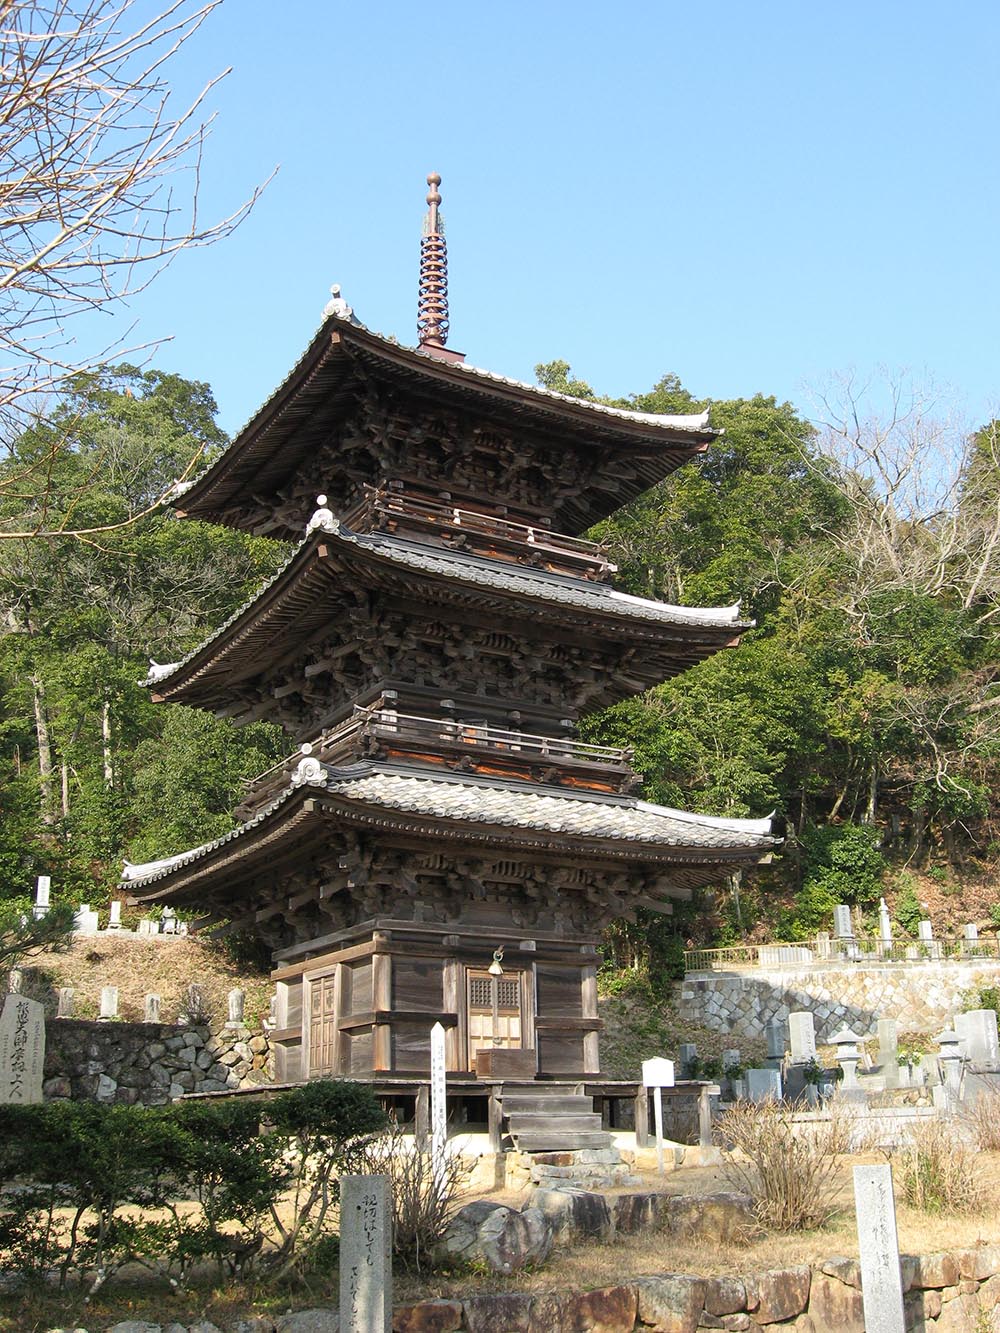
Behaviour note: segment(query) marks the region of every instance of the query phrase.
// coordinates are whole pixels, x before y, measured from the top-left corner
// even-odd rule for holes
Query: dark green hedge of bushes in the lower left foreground
[[[0,1257],[91,1294],[133,1262],[275,1280],[329,1246],[336,1173],[384,1126],[371,1092],[347,1082],[265,1104],[0,1106],[0,1185],[17,1181],[20,1202],[0,1218]]]

